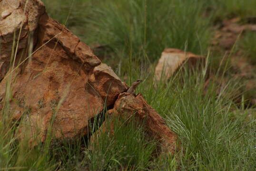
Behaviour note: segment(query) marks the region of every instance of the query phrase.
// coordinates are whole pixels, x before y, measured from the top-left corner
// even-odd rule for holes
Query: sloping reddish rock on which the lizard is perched
[[[144,124],[144,130],[147,134],[146,139],[149,141],[157,140],[158,147],[161,152],[175,153],[177,150],[177,134],[173,133],[165,124],[164,119],[145,101],[141,94],[130,95],[129,93],[122,93],[118,96],[117,101],[114,104],[114,108],[108,110],[107,119],[110,118],[122,118],[123,120],[129,120],[131,117],[135,117],[135,120],[139,124]],[[99,133],[107,131],[107,123],[105,121],[101,129],[96,132],[91,139],[93,143]],[[113,128],[112,122],[110,127]],[[110,130],[112,133],[113,129]]]

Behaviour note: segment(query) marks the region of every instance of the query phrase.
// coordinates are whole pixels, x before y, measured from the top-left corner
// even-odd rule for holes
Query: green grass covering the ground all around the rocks
[[[175,156],[153,157],[156,142],[148,142],[143,125],[134,121],[115,124],[114,135],[101,133],[95,143],[89,142],[88,137],[58,141],[49,135],[47,142],[30,148],[28,140],[20,141],[14,136],[19,123],[10,117],[12,84],[9,79],[6,98],[0,102],[5,106],[0,115],[0,170],[256,170],[256,123],[253,116],[249,117],[249,113],[256,111],[247,107],[244,100],[235,101],[243,97],[237,93],[241,87],[239,80],[228,79],[220,84],[229,66],[224,63],[221,69],[211,70],[215,53],[208,55],[210,63],[205,67],[190,69],[185,65],[170,81],[163,80],[157,87],[152,84],[154,64],[164,48],[207,55],[210,26],[218,10],[224,13],[222,17],[252,16],[253,0],[219,3],[204,0],[43,1],[49,15],[65,23],[84,42],[111,47],[113,56],[104,61],[113,66],[122,80],[131,84],[138,78],[144,79],[137,91],[178,134],[181,150]],[[218,10],[206,17],[207,6]],[[254,37],[255,33],[246,33],[241,45],[238,43],[252,62],[256,62]],[[217,79],[206,88],[209,72]],[[39,107],[42,105],[43,102],[39,102]],[[56,102],[57,108],[58,105]],[[93,129],[98,129],[98,124],[94,126]]]

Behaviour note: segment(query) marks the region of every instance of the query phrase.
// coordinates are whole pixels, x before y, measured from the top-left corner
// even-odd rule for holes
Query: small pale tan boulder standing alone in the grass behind
[[[186,60],[191,65],[195,65],[198,61],[204,59],[202,56],[192,54],[190,52],[184,52],[175,48],[167,48],[162,52],[162,55],[158,61],[158,65],[155,68],[155,80],[159,81],[162,78],[169,79],[178,67],[181,66]]]

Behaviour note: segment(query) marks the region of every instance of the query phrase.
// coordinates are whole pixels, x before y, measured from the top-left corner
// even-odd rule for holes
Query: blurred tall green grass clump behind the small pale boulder
[[[205,53],[210,33],[209,19],[201,16],[203,5],[199,0],[97,2],[88,21],[91,39],[112,47],[123,61],[121,68],[130,61],[153,62],[166,47]]]

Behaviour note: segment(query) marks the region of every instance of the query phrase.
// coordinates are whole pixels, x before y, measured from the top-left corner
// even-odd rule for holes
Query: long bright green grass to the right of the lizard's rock
[[[184,171],[255,170],[256,124],[248,120],[246,109],[232,101],[239,83],[236,79],[230,80],[220,89],[215,80],[206,90],[203,73],[200,69],[196,72],[185,69],[185,73],[178,73],[177,79],[171,79],[166,87],[160,85],[160,91],[146,96],[166,118],[171,130],[178,134],[184,153],[179,154],[175,168]],[[139,87],[145,95],[147,86]],[[172,163],[164,161],[158,165],[159,170],[167,170]]]

